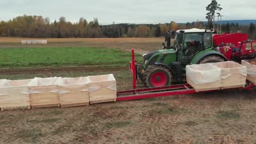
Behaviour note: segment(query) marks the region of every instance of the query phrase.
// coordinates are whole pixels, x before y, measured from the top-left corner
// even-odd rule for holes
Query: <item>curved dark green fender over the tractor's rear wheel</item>
[[[202,60],[203,58],[209,56],[209,55],[218,55],[221,58],[223,58],[225,61],[228,61],[228,59],[221,54],[220,52],[217,51],[202,51],[199,52],[198,54],[195,55],[195,57],[190,61],[191,64],[197,64],[200,60]]]

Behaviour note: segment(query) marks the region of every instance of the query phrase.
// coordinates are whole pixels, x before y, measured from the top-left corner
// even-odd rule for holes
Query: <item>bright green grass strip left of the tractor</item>
[[[135,54],[138,61],[140,54]],[[0,68],[129,65],[131,52],[119,49],[59,47],[0,49]]]

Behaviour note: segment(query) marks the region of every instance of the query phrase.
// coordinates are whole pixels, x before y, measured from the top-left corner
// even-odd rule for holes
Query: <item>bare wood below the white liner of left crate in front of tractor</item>
[[[201,91],[211,91],[211,90],[220,90],[221,87],[221,81],[216,81],[213,83],[208,83],[208,84],[203,84],[203,85],[197,85],[193,81],[191,81],[187,77],[187,83],[191,85],[196,92],[201,92]]]

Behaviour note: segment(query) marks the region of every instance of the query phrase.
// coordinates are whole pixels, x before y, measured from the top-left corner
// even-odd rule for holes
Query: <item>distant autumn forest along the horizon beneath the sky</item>
[[[102,26],[97,18],[87,21],[80,18],[78,22],[72,23],[65,17],[51,22],[49,18],[42,16],[23,15],[9,21],[0,22],[0,37],[31,37],[31,38],[96,38],[96,37],[161,37],[167,30],[207,28],[202,21],[178,24],[170,23],[153,24],[115,24]],[[217,25],[215,26],[217,28]],[[238,23],[226,23],[221,25],[221,32],[247,33],[250,38],[256,38],[256,26],[239,25]]]

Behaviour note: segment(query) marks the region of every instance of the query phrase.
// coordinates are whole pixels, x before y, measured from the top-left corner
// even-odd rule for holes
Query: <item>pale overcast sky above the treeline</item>
[[[102,25],[115,23],[164,23],[206,21],[205,7],[211,0],[0,0],[0,21],[19,15],[59,17],[76,22],[98,18]],[[224,20],[256,19],[255,0],[218,1]]]

